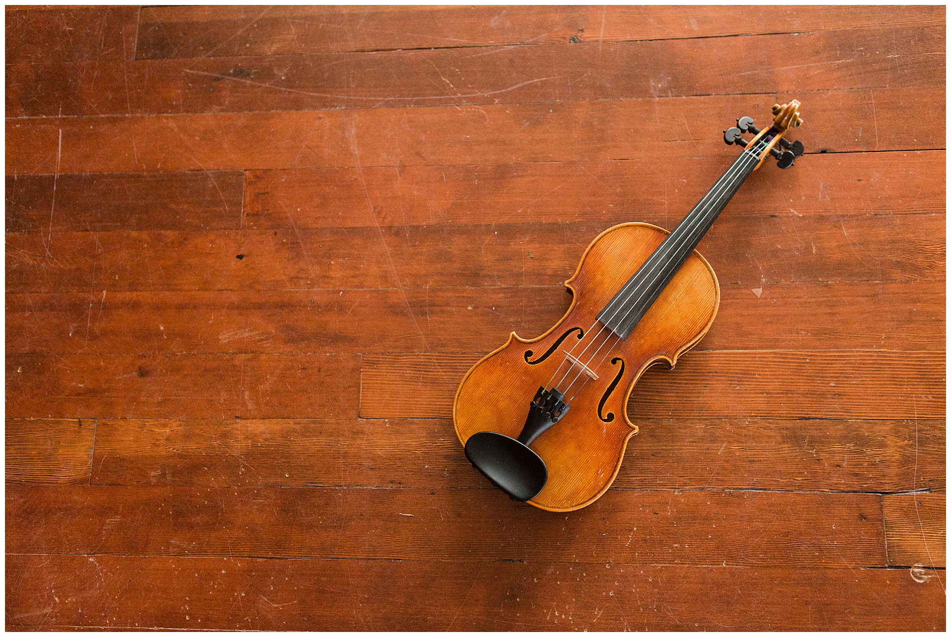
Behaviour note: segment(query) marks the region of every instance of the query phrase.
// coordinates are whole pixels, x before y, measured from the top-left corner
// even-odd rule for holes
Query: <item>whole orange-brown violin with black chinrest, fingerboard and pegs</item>
[[[694,249],[767,157],[788,168],[803,154],[785,137],[803,123],[799,106],[775,104],[763,130],[737,120],[724,141],[744,150],[672,232],[622,223],[598,234],[565,282],[572,305],[554,327],[531,340],[512,332],[466,373],[456,435],[495,487],[557,512],[608,490],[637,433],[626,409],[637,379],[650,365],[673,367],[716,316],[716,274]]]

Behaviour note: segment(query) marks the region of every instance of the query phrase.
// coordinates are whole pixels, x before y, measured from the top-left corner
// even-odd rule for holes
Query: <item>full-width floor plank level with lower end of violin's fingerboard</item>
[[[755,285],[722,287],[697,350],[944,350],[943,281]],[[7,352],[486,351],[570,303],[558,287],[8,293]]]

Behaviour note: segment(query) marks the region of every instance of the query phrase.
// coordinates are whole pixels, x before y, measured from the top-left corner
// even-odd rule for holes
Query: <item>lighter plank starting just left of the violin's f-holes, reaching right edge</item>
[[[368,354],[362,418],[450,418],[481,353]],[[944,355],[927,351],[689,352],[647,371],[631,418],[943,419]]]

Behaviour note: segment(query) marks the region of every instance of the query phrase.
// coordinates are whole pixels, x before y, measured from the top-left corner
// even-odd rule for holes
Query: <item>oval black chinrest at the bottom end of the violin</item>
[[[466,440],[465,450],[483,476],[519,502],[537,496],[548,481],[545,461],[514,438],[480,431]]]

